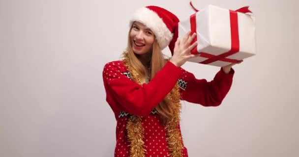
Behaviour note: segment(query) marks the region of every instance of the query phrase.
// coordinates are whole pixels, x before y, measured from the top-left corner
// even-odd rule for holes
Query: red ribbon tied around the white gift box
[[[199,10],[197,10],[196,8],[194,8],[194,6],[192,5],[192,2],[190,1],[190,5],[192,6],[192,8],[198,12]],[[238,26],[238,12],[241,13],[251,13],[251,11],[248,9],[249,6],[245,6],[242,8],[239,8],[235,11],[233,10],[229,10],[230,12],[230,22],[231,22],[231,50],[228,52],[224,52],[220,55],[212,55],[209,53],[205,53],[205,52],[197,52],[197,47],[195,47],[193,50],[191,50],[192,54],[197,54],[200,53],[201,57],[205,57],[205,58],[209,58],[206,59],[200,63],[202,64],[209,64],[212,63],[214,61],[220,60],[220,61],[225,61],[225,62],[230,62],[230,63],[237,63],[240,60],[237,59],[230,59],[230,58],[226,58],[232,54],[235,54],[237,52],[239,52],[239,26]],[[190,16],[190,26],[191,26],[191,32],[190,34],[193,34],[196,32],[196,13]],[[197,39],[195,38],[192,42],[196,42]]]

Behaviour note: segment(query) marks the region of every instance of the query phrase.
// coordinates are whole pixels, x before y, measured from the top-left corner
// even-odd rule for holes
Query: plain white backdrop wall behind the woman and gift
[[[190,157],[298,157],[296,0],[193,0],[256,17],[257,55],[234,68],[218,107],[182,102]],[[0,0],[0,156],[113,157],[116,121],[103,66],[126,47],[133,11],[158,5],[180,19],[189,0]],[[165,49],[165,54],[169,50]],[[211,80],[217,67],[183,68]]]

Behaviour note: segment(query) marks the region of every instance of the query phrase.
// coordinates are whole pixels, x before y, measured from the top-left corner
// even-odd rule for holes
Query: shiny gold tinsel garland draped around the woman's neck
[[[142,85],[138,72],[130,64],[128,52],[123,52],[123,62],[129,70],[132,80]],[[181,135],[178,129],[181,109],[178,84],[176,84],[173,90],[167,95],[167,98],[176,104],[176,107],[173,108],[174,116],[165,126],[166,141],[168,143],[167,147],[170,151],[170,157],[182,157],[183,146]],[[145,157],[146,150],[143,141],[144,129],[142,127],[142,117],[130,115],[126,125],[126,130],[128,133],[128,140],[130,142],[130,157]]]

